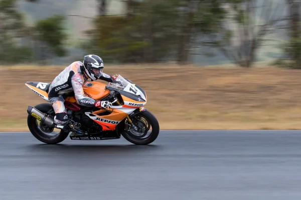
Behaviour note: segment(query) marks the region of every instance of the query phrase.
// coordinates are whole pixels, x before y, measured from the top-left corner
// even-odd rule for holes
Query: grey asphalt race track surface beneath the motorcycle
[[[301,131],[161,131],[147,146],[0,133],[0,199],[301,199]]]

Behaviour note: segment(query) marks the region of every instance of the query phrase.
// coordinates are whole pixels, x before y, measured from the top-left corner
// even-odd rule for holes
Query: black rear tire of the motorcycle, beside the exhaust
[[[36,109],[40,110],[43,113],[48,112],[49,110],[52,109],[53,111],[53,107],[50,103],[41,103],[35,106]],[[53,113],[51,115],[49,115],[49,117],[54,117],[55,113],[53,111]],[[40,122],[40,124],[38,124],[38,122]],[[56,144],[56,143],[60,143],[62,141],[64,141],[69,132],[65,132],[63,130],[60,130],[60,132],[58,134],[56,134],[55,136],[51,136],[49,135],[49,133],[53,132],[53,128],[51,129],[49,126],[45,125],[45,124],[41,124],[41,121],[39,121],[38,119],[36,119],[35,117],[28,115],[27,117],[27,125],[29,130],[31,131],[31,133],[40,141],[44,142],[44,143],[48,143],[48,144]]]

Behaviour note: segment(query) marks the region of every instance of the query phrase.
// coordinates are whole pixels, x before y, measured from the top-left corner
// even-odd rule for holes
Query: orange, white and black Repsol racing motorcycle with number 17
[[[50,83],[26,82],[32,91],[49,102]],[[146,104],[145,91],[120,74],[114,81],[104,84],[87,81],[83,85],[86,96],[96,100],[112,102],[110,108],[81,106],[74,92],[65,96],[71,139],[102,140],[118,139],[122,135],[134,144],[149,144],[158,137],[160,127],[155,115],[143,105]],[[51,103],[28,106],[27,123],[31,133],[40,141],[50,144],[62,142],[69,131],[59,128],[54,122],[55,112]],[[54,133],[54,130],[58,132]]]

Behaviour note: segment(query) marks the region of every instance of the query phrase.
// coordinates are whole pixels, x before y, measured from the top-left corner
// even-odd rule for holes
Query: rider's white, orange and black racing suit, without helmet
[[[72,91],[80,105],[92,107],[96,101],[84,95],[82,86],[86,83],[87,77],[82,72],[84,71],[82,66],[81,61],[71,63],[55,77],[50,85],[48,98],[56,113],[54,120],[59,125],[65,125],[68,122],[64,101]],[[99,79],[112,82],[114,80],[112,77],[102,72]]]

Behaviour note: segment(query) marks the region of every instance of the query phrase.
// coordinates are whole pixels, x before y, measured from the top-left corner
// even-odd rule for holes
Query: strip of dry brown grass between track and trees
[[[28,131],[27,106],[46,102],[26,81],[51,82],[64,66],[0,69],[0,131]],[[161,129],[300,129],[301,70],[177,65],[107,66],[145,89]]]

